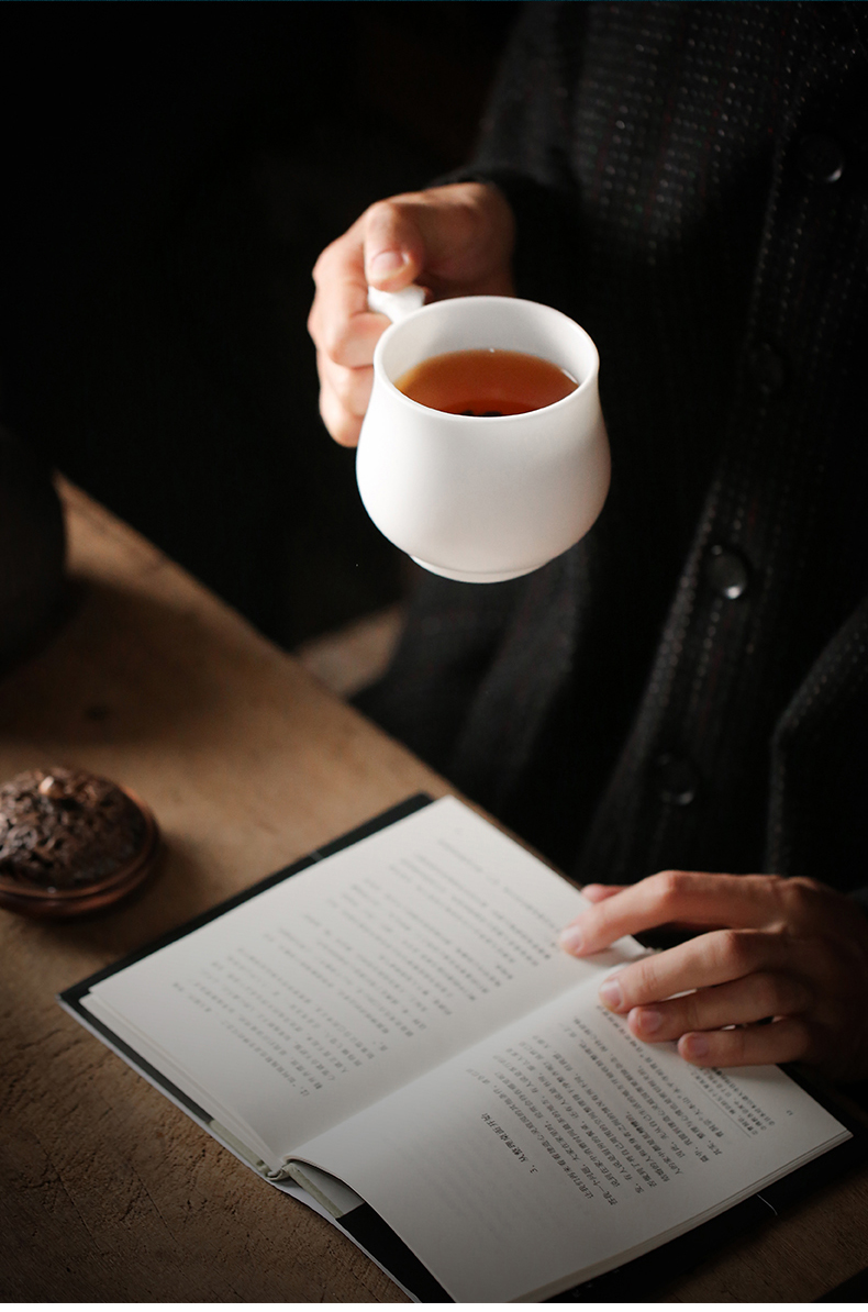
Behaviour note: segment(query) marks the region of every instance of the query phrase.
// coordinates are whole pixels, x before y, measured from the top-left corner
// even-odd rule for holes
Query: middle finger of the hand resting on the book
[[[757,929],[719,929],[656,953],[610,975],[599,1000],[611,1012],[649,1006],[675,993],[726,984],[766,971],[792,972],[806,949],[780,934]],[[768,1014],[768,1013],[766,1013]]]

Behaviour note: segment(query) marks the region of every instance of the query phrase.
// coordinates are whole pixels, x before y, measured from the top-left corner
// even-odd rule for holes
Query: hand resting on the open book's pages
[[[637,1038],[677,1040],[695,1065],[868,1076],[868,918],[848,897],[813,879],[681,870],[582,892],[594,907],[561,935],[574,956],[662,925],[705,930],[604,983],[601,1001]]]

